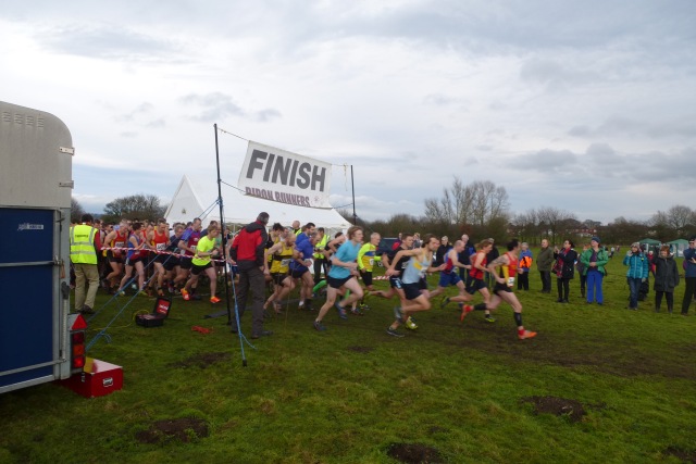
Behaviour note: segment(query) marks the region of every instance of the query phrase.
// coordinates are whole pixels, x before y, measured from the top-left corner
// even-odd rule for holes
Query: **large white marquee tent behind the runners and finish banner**
[[[328,233],[345,231],[350,227],[350,223],[335,209],[320,210],[263,200],[246,196],[225,184],[222,185],[222,198],[227,224],[249,224],[256,221],[260,212],[265,211],[271,216],[269,225],[281,223],[284,226],[290,226],[293,221],[298,220],[300,224],[312,222],[316,227],[324,227]],[[203,180],[184,175],[164,217],[170,224],[187,223],[194,217],[200,217],[204,227],[211,220],[220,221],[220,206],[216,200],[217,183],[214,179]]]

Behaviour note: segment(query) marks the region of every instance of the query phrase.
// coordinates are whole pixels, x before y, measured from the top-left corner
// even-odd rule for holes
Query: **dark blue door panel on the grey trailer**
[[[55,378],[59,214],[0,206],[0,392]]]

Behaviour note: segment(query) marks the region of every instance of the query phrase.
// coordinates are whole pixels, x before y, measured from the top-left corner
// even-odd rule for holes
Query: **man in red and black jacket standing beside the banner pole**
[[[265,242],[269,235],[265,226],[269,213],[260,213],[257,220],[244,227],[235,237],[229,249],[229,256],[239,268],[239,285],[237,287],[237,310],[239,319],[247,308],[249,290],[253,293],[251,306],[251,338],[273,335],[263,329],[263,300],[265,299],[265,274],[269,273],[268,262],[263,259]],[[232,321],[232,331],[238,330],[236,318]]]

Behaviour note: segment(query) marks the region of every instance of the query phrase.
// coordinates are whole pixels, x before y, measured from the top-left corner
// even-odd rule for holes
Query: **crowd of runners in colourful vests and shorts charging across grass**
[[[215,221],[206,228],[199,218],[172,225],[165,220],[157,223],[123,220],[116,225],[95,221],[94,226],[100,233],[100,281],[109,293],[181,294],[186,301],[200,300],[200,277],[206,276],[210,302],[216,304],[221,301],[217,285],[222,281],[225,264],[229,266],[231,276],[237,274],[237,263],[233,259],[237,253],[237,240],[229,230],[221,230]],[[365,236],[358,226],[333,237],[313,223],[300,227],[298,221],[291,227],[273,224],[268,234],[265,223],[261,222],[259,227],[264,229],[263,237],[268,237],[263,264],[259,266],[269,289],[263,297],[265,314],[281,313],[294,290],[299,296],[294,300],[298,308],[314,311],[313,300],[325,291],[326,299],[313,322],[314,329],[323,331],[326,329],[323,321],[332,309],[338,317],[347,318],[348,313],[363,314],[369,309],[368,298],[394,299],[394,322],[386,333],[403,337],[400,326],[418,329],[414,316],[430,310],[431,300],[448,287],[457,287],[458,293],[443,297],[439,305],[457,303],[461,321],[476,310],[484,313],[485,321],[494,323],[490,312],[505,302],[513,309],[518,337],[527,339],[536,335],[524,328],[522,305],[513,292],[519,273],[524,273],[520,268],[524,264],[520,259],[522,244],[515,239],[507,243],[502,255],[497,255],[492,253],[492,250],[497,251],[492,239],[472,248],[465,235],[449,246],[447,237],[440,240],[428,234],[421,239],[418,234],[405,233],[391,250],[377,256],[380,234]],[[223,234],[226,235],[226,250],[223,250]],[[388,290],[377,290],[373,285],[373,268],[377,261],[382,261],[386,269],[383,278],[388,278]],[[439,273],[438,286],[433,291],[426,284],[430,273]],[[488,278],[490,283],[486,280]],[[473,302],[475,294],[481,296],[481,302],[468,304]]]

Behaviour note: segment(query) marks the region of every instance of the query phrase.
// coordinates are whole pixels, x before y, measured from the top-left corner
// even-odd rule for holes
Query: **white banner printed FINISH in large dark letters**
[[[249,140],[239,173],[247,195],[281,203],[331,209],[331,163]]]

